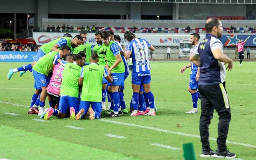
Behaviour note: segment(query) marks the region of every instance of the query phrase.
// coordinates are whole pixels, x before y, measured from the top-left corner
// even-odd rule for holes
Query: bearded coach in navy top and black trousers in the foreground
[[[200,136],[202,142],[201,157],[214,156],[218,158],[234,158],[236,154],[227,150],[226,139],[231,119],[229,97],[225,89],[225,63],[228,63],[228,71],[232,69],[232,59],[223,54],[223,44],[218,39],[223,31],[221,21],[218,18],[209,18],[205,23],[207,31],[197,49],[194,49],[190,60],[200,67],[198,81],[201,94]],[[214,109],[219,115],[217,138],[218,148],[216,153],[210,149],[209,129],[210,120]]]

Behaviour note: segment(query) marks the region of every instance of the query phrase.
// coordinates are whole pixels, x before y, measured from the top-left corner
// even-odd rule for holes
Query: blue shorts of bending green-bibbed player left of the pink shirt
[[[34,85],[35,89],[41,89],[41,87],[46,87],[49,85],[49,82],[50,82],[49,76],[46,76],[42,73],[38,73],[34,69],[32,69],[32,73],[35,79],[35,85]]]

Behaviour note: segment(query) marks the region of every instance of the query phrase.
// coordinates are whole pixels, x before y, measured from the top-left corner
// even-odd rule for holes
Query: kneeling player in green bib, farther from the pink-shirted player
[[[113,81],[106,68],[97,64],[99,56],[96,53],[91,54],[90,62],[90,65],[82,67],[79,78],[79,85],[82,85],[82,95],[79,105],[80,111],[75,116],[76,120],[80,120],[88,110],[90,120],[101,117],[102,78],[105,77],[110,83]],[[89,109],[90,105],[91,109]]]

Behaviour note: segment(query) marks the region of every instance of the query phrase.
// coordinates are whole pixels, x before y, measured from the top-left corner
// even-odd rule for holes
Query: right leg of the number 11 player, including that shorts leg
[[[144,87],[144,91],[146,92],[146,96],[148,98],[148,103],[150,105],[150,111],[146,114],[144,114],[145,116],[155,116],[155,98],[153,93],[151,92],[151,74],[150,71],[143,71],[143,74],[145,74],[146,76],[143,76],[142,79],[142,84]]]

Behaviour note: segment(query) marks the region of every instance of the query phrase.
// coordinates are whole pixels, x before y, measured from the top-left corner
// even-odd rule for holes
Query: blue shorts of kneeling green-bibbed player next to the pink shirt
[[[78,113],[78,109],[79,109],[78,98],[61,95],[60,102],[59,102],[59,110],[61,111],[61,113],[67,113],[67,111],[70,110],[70,107],[74,107],[75,114]]]

